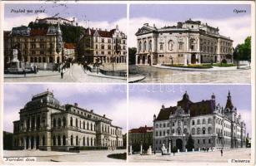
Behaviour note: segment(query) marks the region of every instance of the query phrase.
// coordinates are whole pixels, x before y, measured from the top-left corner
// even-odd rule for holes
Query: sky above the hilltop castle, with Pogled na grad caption
[[[68,4],[68,3],[33,3],[33,4],[5,4],[4,8],[4,30],[11,30],[12,27],[28,25],[35,21],[36,17],[58,17],[73,20],[78,19],[78,25],[98,27],[102,29],[113,29],[118,25],[119,29],[126,32],[127,7],[125,4]],[[14,12],[25,9],[25,12]],[[32,10],[33,12],[28,12]],[[36,11],[43,11],[38,12]]]

